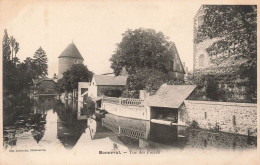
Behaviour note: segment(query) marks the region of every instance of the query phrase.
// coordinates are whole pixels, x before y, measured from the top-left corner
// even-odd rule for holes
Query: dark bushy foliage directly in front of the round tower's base
[[[70,70],[63,73],[63,77],[58,80],[57,90],[59,93],[64,91],[72,92],[78,89],[78,82],[91,81],[93,72],[89,71],[83,64],[74,64]]]

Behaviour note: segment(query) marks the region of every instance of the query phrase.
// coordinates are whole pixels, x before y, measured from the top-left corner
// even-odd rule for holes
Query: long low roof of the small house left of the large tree
[[[107,75],[94,75],[96,85],[126,85],[126,76],[107,76]]]

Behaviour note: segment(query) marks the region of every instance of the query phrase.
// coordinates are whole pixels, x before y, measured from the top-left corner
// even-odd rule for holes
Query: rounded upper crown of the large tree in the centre
[[[164,57],[169,43],[162,32],[140,28],[129,29],[122,35],[122,41],[110,59],[115,75],[119,75],[123,67],[130,75],[140,68],[165,71]]]

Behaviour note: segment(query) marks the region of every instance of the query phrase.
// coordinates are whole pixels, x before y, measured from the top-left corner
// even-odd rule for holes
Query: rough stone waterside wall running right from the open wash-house
[[[178,112],[178,122],[190,125],[198,122],[203,129],[242,135],[257,135],[257,105],[252,103],[186,100]]]

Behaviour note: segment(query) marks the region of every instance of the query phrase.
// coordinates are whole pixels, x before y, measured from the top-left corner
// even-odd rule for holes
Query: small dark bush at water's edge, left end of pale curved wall
[[[88,96],[83,98],[83,108],[81,109],[81,114],[90,116],[95,113],[95,102]]]

